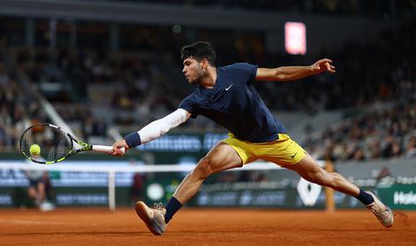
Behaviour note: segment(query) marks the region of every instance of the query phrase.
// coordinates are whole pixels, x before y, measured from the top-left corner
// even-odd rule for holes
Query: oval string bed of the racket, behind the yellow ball
[[[22,135],[20,144],[26,157],[39,163],[56,162],[72,150],[71,138],[64,131],[48,125],[29,128]],[[34,144],[39,146],[40,151],[35,150],[37,147]]]

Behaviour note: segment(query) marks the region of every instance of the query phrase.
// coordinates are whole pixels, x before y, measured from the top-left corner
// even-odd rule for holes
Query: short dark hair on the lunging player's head
[[[201,61],[203,58],[208,60],[209,65],[216,65],[216,50],[209,42],[194,42],[193,44],[184,46],[180,51],[180,58],[194,58]]]

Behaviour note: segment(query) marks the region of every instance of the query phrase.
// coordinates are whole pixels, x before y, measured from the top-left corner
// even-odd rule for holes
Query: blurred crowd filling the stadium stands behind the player
[[[388,30],[369,42],[345,43],[340,50],[322,50],[337,66],[337,76],[324,74],[293,83],[256,83],[272,111],[306,111],[369,106],[377,102],[389,109],[345,120],[305,143],[319,158],[370,159],[415,155],[416,43],[411,24]],[[200,37],[203,39],[203,35]],[[262,66],[304,65],[305,58],[269,54],[264,40],[240,36],[210,41],[218,51],[218,65],[249,61]],[[246,38],[246,39],[245,39]],[[180,39],[179,39],[180,40]],[[9,49],[0,59],[0,150],[17,148],[19,135],[35,122],[48,121],[26,81],[42,92],[65,121],[77,121],[81,137],[106,135],[109,126],[143,126],[176,109],[193,87],[181,76],[179,50],[155,43],[147,50]],[[53,88],[53,89],[50,89]],[[101,111],[100,111],[101,109]],[[207,127],[187,123],[192,127]],[[320,141],[321,140],[321,141]]]

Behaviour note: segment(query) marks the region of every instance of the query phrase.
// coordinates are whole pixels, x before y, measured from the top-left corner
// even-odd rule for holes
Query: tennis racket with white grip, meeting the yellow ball
[[[51,124],[29,127],[20,138],[23,155],[40,164],[54,164],[87,150],[110,154],[113,147],[80,142],[63,128]]]

